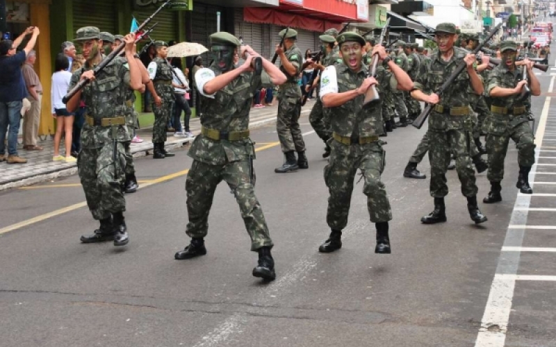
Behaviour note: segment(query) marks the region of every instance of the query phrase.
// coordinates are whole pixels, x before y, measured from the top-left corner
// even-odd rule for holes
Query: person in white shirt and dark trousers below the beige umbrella
[[[172,80],[172,87],[174,87],[174,96],[176,97],[176,102],[174,103],[174,128],[176,132],[174,133],[175,137],[194,137],[193,133],[189,128],[189,119],[191,117],[191,108],[189,107],[188,103],[188,96],[189,96],[189,81],[187,80],[186,76],[183,74],[179,67],[172,67],[174,69],[175,74],[174,79]],[[186,68],[186,74],[189,71]],[[186,112],[186,115],[183,117],[183,127],[185,130],[181,128],[181,111]]]

